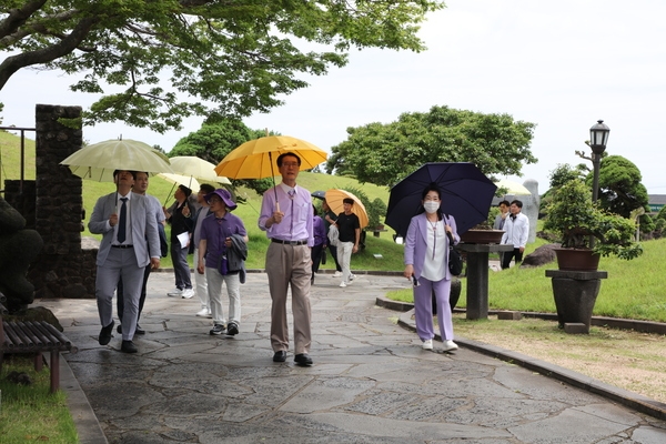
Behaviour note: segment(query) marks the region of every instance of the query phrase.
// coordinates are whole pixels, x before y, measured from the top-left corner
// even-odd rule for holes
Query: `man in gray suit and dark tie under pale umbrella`
[[[139,299],[143,272],[149,264],[160,266],[160,238],[150,201],[133,194],[134,171],[115,170],[117,191],[98,199],[88,223],[91,233],[103,234],[97,256],[95,295],[102,330],[100,345],[111,341],[113,332],[113,292],[122,278],[124,309],[122,344],[124,353],[137,353],[132,342],[139,315]],[[150,245],[150,250],[149,250]],[[154,252],[153,256],[149,251]]]

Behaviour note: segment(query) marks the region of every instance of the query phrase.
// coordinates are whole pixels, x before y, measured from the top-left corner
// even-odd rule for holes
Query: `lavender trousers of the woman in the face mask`
[[[442,341],[453,341],[453,321],[451,319],[451,280],[430,281],[423,276],[418,278],[418,286],[414,287],[414,310],[416,312],[416,334],[421,341],[435,337],[433,326],[432,293],[435,292],[437,301],[437,322]]]

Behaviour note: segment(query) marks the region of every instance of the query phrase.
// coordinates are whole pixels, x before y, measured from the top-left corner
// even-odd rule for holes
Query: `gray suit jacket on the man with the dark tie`
[[[90,222],[88,222],[91,233],[103,234],[97,259],[99,266],[104,265],[113,243],[113,226],[109,225],[109,218],[115,212],[115,195],[117,193],[113,192],[98,199]],[[148,266],[150,263],[149,245],[150,251],[157,252],[155,258],[160,256],[160,235],[151,203],[144,195],[132,194],[132,199],[130,199],[130,224],[137,263],[139,266]]]

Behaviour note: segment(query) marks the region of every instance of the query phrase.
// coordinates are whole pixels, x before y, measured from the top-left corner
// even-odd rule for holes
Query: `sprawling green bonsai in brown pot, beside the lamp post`
[[[544,229],[562,242],[562,249],[555,251],[561,270],[584,270],[583,265],[567,263],[563,268],[561,258],[571,253],[589,256],[597,265],[601,256],[632,260],[643,253],[640,244],[634,240],[635,223],[601,210],[592,202],[588,188],[579,179],[567,182],[553,193]],[[588,270],[596,270],[596,266]]]

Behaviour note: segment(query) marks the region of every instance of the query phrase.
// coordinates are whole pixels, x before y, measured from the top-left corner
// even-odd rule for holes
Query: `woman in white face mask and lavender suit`
[[[416,333],[423,341],[424,350],[433,350],[435,332],[433,327],[432,294],[437,301],[437,321],[444,351],[457,350],[453,342],[453,322],[448,296],[451,294],[451,273],[448,271],[448,235],[454,243],[460,238],[455,219],[440,210],[442,194],[436,184],[431,183],[423,190],[424,211],[412,218],[405,239],[404,276],[414,283],[414,309],[416,312]]]

